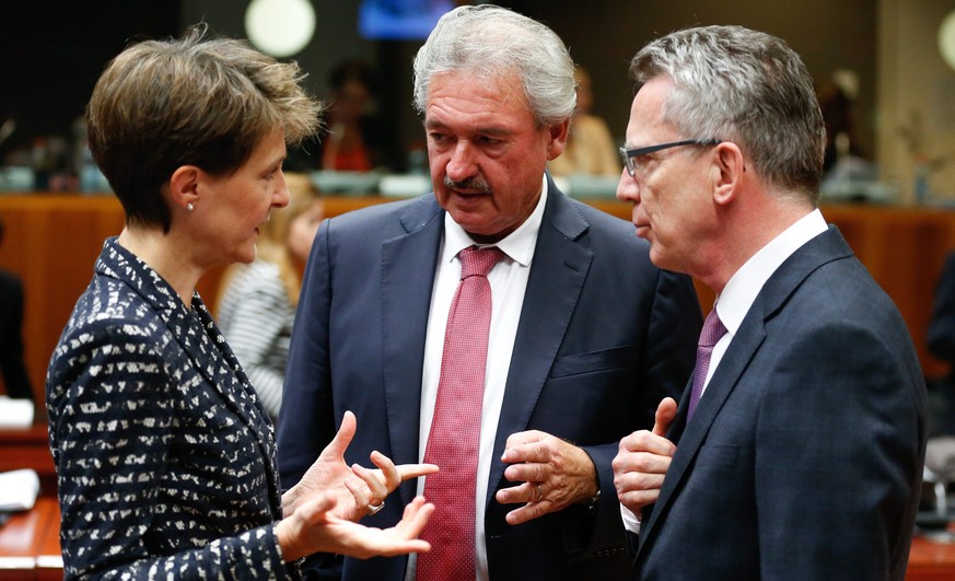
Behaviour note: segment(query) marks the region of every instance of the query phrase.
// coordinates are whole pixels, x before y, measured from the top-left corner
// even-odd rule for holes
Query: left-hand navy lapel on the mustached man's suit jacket
[[[443,216],[432,197],[421,198],[400,217],[406,234],[382,244],[382,364],[395,464],[418,462],[426,322]],[[410,502],[414,481],[405,483],[400,490],[403,499]]]

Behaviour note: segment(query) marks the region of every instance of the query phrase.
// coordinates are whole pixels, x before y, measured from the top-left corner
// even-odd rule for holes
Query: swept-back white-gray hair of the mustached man
[[[516,72],[543,127],[573,114],[573,68],[563,42],[544,24],[491,4],[463,5],[441,16],[415,57],[415,107],[424,112],[435,73],[467,71],[493,81]]]

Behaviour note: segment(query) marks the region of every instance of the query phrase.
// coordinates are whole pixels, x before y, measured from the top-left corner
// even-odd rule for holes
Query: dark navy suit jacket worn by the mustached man
[[[660,399],[683,390],[701,326],[691,281],[655,268],[631,224],[567,198],[552,182],[549,188],[492,457],[523,430],[564,438],[594,460],[602,498],[593,512],[572,507],[509,525],[504,515],[515,507],[493,495],[513,484],[494,462],[485,520],[494,581],[626,576],[610,461],[622,435],[650,428]],[[351,462],[366,465],[372,450],[418,462],[426,323],[443,232],[444,211],[432,196],[319,228],[278,422],[286,486],[348,409],[358,417]],[[404,484],[369,523],[395,523],[415,486]],[[345,577],[400,580],[406,561],[346,559]]]

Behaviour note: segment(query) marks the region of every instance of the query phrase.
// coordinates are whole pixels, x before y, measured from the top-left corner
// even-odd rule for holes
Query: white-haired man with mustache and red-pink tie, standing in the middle
[[[610,461],[689,376],[691,281],[546,175],[575,100],[552,31],[461,7],[418,53],[415,81],[434,195],[319,228],[279,419],[282,479],[350,409],[365,427],[354,458],[380,450],[441,472],[418,485],[436,507],[432,550],[346,559],[345,579],[626,576]],[[415,492],[400,488],[369,524],[396,522]]]

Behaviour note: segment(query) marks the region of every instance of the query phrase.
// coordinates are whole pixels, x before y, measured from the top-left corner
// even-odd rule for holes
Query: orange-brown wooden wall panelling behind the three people
[[[337,216],[383,197],[326,197],[326,214]],[[626,220],[630,206],[594,200],[598,209]],[[955,212],[923,208],[828,206],[826,219],[845,234],[875,280],[896,302],[919,350],[927,374],[946,370],[925,350],[932,297],[945,254],[955,248]],[[0,246],[0,268],[19,274],[26,289],[24,340],[26,363],[42,402],[46,367],[69,314],[93,272],[93,263],[107,236],[123,229],[123,210],[112,196],[49,194],[0,196],[0,217],[7,225]],[[199,292],[214,309],[222,268],[208,272]],[[713,294],[697,284],[707,312]]]

